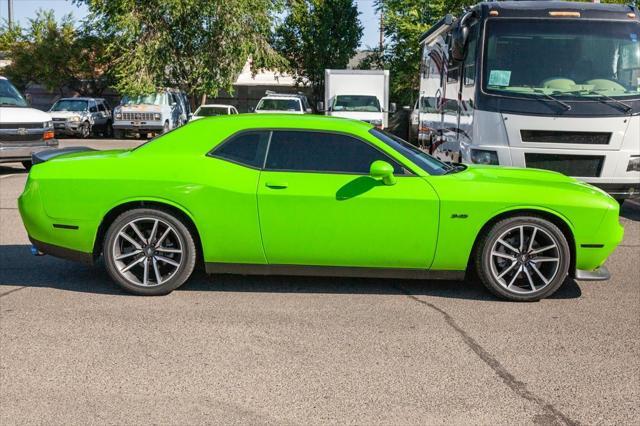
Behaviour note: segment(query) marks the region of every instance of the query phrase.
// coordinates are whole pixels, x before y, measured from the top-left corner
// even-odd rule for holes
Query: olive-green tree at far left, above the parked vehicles
[[[65,87],[81,95],[100,95],[110,83],[103,40],[78,30],[71,15],[60,22],[53,11],[38,11],[22,29],[0,28],[0,50],[11,63],[2,72],[21,90],[42,84],[62,94]]]

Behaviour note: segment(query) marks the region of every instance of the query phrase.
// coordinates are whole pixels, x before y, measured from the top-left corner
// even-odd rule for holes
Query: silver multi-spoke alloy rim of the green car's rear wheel
[[[183,246],[169,223],[142,217],[120,228],[111,249],[124,279],[137,286],[156,287],[170,280],[184,263]]]

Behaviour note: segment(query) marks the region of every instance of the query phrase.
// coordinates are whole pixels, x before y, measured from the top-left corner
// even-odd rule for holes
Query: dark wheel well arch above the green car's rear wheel
[[[105,216],[102,218],[102,222],[98,227],[98,232],[96,233],[96,239],[93,244],[93,257],[97,258],[102,253],[102,249],[104,246],[104,239],[107,234],[107,230],[109,226],[113,223],[114,220],[122,213],[127,210],[139,209],[139,208],[152,208],[162,210],[166,213],[170,213],[178,218],[184,225],[189,229],[191,235],[193,235],[194,242],[196,243],[197,250],[197,260],[196,262],[202,262],[203,260],[203,251],[202,251],[202,241],[200,240],[200,234],[198,232],[198,228],[195,223],[191,220],[189,215],[180,210],[177,207],[174,207],[170,204],[160,203],[157,201],[131,201],[128,203],[120,204],[117,207],[111,209]]]

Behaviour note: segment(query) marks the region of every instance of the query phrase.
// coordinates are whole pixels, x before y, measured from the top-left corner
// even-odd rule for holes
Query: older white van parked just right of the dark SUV
[[[114,136],[167,133],[185,124],[189,113],[184,99],[183,94],[175,90],[123,97],[114,110]]]

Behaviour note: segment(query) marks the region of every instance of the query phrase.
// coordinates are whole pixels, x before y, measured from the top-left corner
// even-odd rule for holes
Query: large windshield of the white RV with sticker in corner
[[[483,90],[569,100],[640,98],[640,25],[489,19]]]

